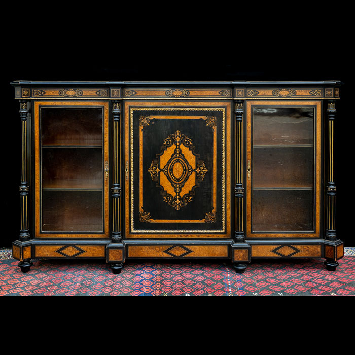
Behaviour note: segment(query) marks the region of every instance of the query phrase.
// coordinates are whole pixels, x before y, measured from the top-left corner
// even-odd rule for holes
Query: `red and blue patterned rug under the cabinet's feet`
[[[128,261],[118,275],[102,260],[36,260],[22,273],[11,250],[2,250],[0,296],[355,295],[354,250],[334,272],[323,259],[268,259],[253,260],[244,274],[228,262]]]

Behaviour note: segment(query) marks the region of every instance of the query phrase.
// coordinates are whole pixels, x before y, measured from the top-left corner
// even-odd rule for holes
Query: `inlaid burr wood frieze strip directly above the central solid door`
[[[126,88],[123,90],[124,98],[231,98],[230,88],[183,89],[183,88]]]

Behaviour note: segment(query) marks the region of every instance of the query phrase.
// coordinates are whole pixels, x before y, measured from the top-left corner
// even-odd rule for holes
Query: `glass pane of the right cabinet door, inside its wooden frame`
[[[253,108],[253,232],[314,230],[313,143],[313,108]]]

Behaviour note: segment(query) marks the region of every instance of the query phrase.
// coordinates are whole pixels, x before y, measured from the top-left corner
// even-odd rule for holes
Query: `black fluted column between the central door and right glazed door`
[[[243,224],[243,199],[244,199],[244,187],[243,187],[243,114],[244,108],[242,101],[235,103],[235,231],[234,241],[244,242],[244,224]]]

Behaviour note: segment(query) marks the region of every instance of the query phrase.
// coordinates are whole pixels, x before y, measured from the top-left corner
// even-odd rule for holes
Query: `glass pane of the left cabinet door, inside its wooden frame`
[[[103,112],[41,108],[41,231],[103,232]]]

